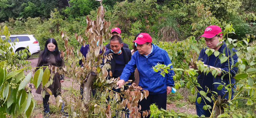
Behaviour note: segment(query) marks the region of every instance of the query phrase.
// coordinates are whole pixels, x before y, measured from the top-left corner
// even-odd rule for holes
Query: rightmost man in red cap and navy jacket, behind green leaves
[[[233,78],[236,73],[238,68],[234,67],[234,65],[232,65],[232,59],[229,57],[229,60],[221,63],[221,60],[219,59],[219,56],[215,56],[214,53],[212,53],[210,56],[208,56],[205,52],[206,49],[214,49],[215,51],[218,51],[220,53],[225,54],[226,56],[231,54],[230,53],[230,49],[227,48],[226,43],[225,42],[220,42],[219,40],[222,39],[222,34],[221,33],[221,28],[219,26],[209,26],[204,30],[204,34],[201,37],[204,37],[205,42],[207,47],[204,47],[198,57],[198,60],[202,60],[202,62],[204,62],[204,66],[207,66],[208,68],[212,68],[212,69],[216,69],[218,73],[218,75],[216,76],[216,78],[214,76],[212,76],[211,73],[208,74],[199,74],[197,76],[197,83],[200,84],[200,87],[197,87],[197,89],[199,91],[204,91],[204,92],[208,92],[207,90],[209,89],[210,91],[214,91],[216,92],[218,95],[221,96],[221,98],[223,99],[229,99],[229,94],[225,91],[227,91],[225,89],[225,87],[223,87],[221,90],[218,90],[217,87],[220,84],[213,84],[213,83],[221,83],[224,85],[224,83],[226,85],[228,84],[234,84],[235,83],[235,79]],[[221,45],[218,45],[218,43],[222,43]],[[218,46],[217,46],[218,45]],[[234,52],[234,55],[232,56],[233,58],[233,64],[236,64],[237,62],[237,54],[235,52],[237,52],[236,49],[232,48],[232,51]],[[189,68],[194,68],[194,66],[189,66]],[[229,70],[230,68],[230,70]],[[229,72],[230,71],[230,79],[229,79]],[[223,79],[222,79],[223,76]],[[230,81],[229,81],[230,80]],[[215,94],[214,92],[212,92],[212,94]],[[207,97],[211,98],[212,96],[211,93],[207,94]],[[225,95],[226,94],[226,95]],[[232,92],[231,92],[231,99],[233,99],[233,88],[232,88]],[[202,97],[200,95],[199,92],[197,92],[197,98]],[[196,99],[197,99],[196,98]],[[206,100],[204,97],[202,98],[204,100],[202,100],[202,102],[197,103],[196,100],[196,113],[197,115],[200,117],[201,115],[204,115],[205,117],[210,117],[211,113],[210,111],[207,110],[203,110],[203,106],[210,105],[211,108],[213,108],[213,100],[211,100],[211,102],[209,102],[208,100]],[[205,102],[206,103],[205,103]],[[210,109],[212,111],[212,109]]]

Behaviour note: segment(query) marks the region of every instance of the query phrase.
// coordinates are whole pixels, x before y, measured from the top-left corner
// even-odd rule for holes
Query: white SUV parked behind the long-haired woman
[[[3,39],[5,39],[5,36],[2,37]],[[30,54],[35,54],[38,53],[40,51],[40,46],[39,46],[39,42],[37,41],[37,39],[35,39],[34,35],[28,35],[28,34],[19,34],[19,35],[10,35],[10,39],[11,42],[14,42],[15,39],[18,38],[19,42],[15,43],[15,46],[12,47],[14,50],[13,52],[18,52],[20,50],[24,50],[26,49],[27,46],[29,46],[29,52]],[[29,58],[29,54],[27,55],[27,58]]]

